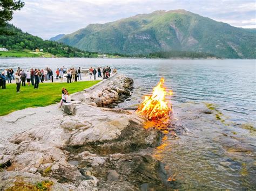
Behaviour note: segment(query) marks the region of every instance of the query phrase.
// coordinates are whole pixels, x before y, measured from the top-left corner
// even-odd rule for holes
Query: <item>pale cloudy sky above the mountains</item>
[[[10,23],[43,39],[156,10],[185,9],[232,26],[256,28],[255,0],[23,0]]]

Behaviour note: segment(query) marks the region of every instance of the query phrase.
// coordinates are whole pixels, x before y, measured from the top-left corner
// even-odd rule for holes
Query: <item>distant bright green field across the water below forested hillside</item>
[[[8,51],[8,52],[1,51],[0,52],[0,57],[21,58],[21,57],[42,57],[42,56],[45,58],[50,58],[53,55],[50,53],[44,53],[44,52],[33,52],[26,49],[24,49],[23,51]]]

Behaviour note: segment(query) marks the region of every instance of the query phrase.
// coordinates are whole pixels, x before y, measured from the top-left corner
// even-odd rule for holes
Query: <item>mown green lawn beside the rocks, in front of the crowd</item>
[[[0,88],[0,116],[12,111],[29,107],[42,107],[59,102],[62,98],[62,88],[68,89],[70,94],[89,88],[96,81],[72,82],[72,83],[39,83],[38,89],[33,86],[21,86],[21,93],[16,93],[16,83],[6,83],[6,89]]]

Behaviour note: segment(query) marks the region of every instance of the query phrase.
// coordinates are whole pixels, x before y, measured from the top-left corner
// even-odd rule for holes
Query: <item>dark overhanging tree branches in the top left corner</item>
[[[0,0],[0,34],[8,34],[4,26],[12,19],[14,11],[23,8],[24,2],[21,0]]]

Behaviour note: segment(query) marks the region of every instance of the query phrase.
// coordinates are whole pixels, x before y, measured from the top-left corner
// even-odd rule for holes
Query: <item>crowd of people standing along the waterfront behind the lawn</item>
[[[112,73],[116,72],[117,70],[114,68]],[[88,70],[88,74],[90,80],[97,80],[97,77],[99,79],[108,79],[111,74],[111,68],[109,66],[103,68],[91,67]],[[54,79],[59,82],[63,82],[64,77],[66,77],[68,83],[82,80],[82,69],[80,67],[78,69],[68,69],[63,67],[57,68],[57,70],[53,72],[49,67],[46,67],[45,69],[21,69],[18,67],[16,72],[14,72],[14,69],[9,68],[0,73],[0,87],[2,86],[2,89],[6,89],[6,81],[8,81],[8,83],[12,83],[12,80],[14,80],[17,85],[16,91],[19,93],[21,86],[26,86],[26,84],[28,84],[28,86],[33,86],[35,89],[38,89],[39,83],[43,83],[45,81],[53,82]]]

